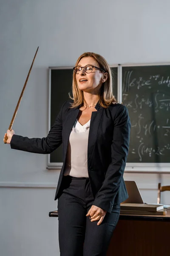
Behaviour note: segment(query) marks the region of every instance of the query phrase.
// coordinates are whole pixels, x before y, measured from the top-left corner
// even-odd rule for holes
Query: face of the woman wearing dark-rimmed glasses
[[[93,65],[99,67],[99,64],[93,57],[84,57],[82,58],[77,66],[85,67],[86,65]],[[98,91],[102,83],[105,81],[104,74],[101,70],[98,70],[94,67],[91,73],[85,73],[84,68],[76,74],[77,85],[80,90],[92,93]],[[82,81],[85,79],[85,81]]]

